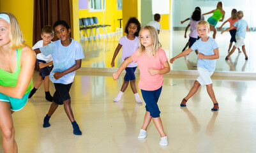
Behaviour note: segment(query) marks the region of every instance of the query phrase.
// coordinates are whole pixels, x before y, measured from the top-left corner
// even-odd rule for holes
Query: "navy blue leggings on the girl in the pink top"
[[[146,111],[150,113],[151,117],[160,117],[160,110],[157,105],[157,101],[160,97],[162,87],[156,91],[144,91],[141,89],[142,97],[146,103]]]

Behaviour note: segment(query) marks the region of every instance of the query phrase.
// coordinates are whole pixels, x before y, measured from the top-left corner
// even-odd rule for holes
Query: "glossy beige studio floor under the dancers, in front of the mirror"
[[[34,82],[38,72],[34,73]],[[63,106],[50,119],[51,126],[43,128],[43,117],[50,103],[40,87],[26,106],[13,114],[15,138],[19,152],[177,152],[177,153],[251,153],[256,146],[255,80],[213,79],[218,112],[206,87],[191,98],[186,108],[179,106],[195,78],[165,77],[158,105],[169,145],[160,147],[160,135],[149,125],[147,138],[138,140],[145,104],[135,103],[130,87],[121,101],[114,103],[123,77],[117,82],[110,73],[77,73],[70,94],[72,108],[82,136],[72,133],[72,125]],[[54,93],[54,85],[50,84]],[[141,92],[139,91],[141,96]],[[1,142],[1,140],[0,140]],[[3,148],[0,145],[0,152]]]

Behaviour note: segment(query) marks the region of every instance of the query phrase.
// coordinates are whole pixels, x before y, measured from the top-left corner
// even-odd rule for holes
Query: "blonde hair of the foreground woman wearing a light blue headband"
[[[2,11],[1,13],[6,14],[10,18],[10,47],[12,49],[18,49],[20,47],[24,47],[25,40],[23,38],[22,32],[20,31],[20,26],[17,19],[14,17],[13,14],[8,13],[6,11]]]

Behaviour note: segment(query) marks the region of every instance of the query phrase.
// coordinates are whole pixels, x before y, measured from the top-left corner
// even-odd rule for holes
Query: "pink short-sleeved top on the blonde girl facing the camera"
[[[155,56],[146,56],[143,53],[138,57],[139,50],[132,54],[132,60],[138,63],[140,69],[139,88],[144,91],[156,91],[163,85],[163,75],[150,75],[148,69],[162,69],[163,62],[168,61],[165,51],[158,48]]]

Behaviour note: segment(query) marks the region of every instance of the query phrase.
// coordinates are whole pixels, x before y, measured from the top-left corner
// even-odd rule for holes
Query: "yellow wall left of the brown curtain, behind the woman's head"
[[[26,44],[31,47],[33,45],[33,9],[33,0],[0,1],[0,11],[8,11],[17,18],[22,34],[26,40]]]

